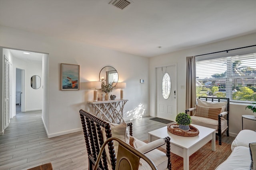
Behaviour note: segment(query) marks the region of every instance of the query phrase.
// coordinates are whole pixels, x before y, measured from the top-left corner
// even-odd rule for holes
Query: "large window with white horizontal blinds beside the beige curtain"
[[[256,101],[256,53],[196,61],[196,95]]]

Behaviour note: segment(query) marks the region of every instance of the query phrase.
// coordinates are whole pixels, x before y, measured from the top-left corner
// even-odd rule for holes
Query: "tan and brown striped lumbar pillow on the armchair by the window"
[[[207,117],[210,119],[218,120],[218,115],[221,112],[222,107],[205,107],[197,106],[194,116]]]

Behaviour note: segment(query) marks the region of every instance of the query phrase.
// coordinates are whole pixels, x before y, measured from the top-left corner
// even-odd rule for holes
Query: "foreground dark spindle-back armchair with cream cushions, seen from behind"
[[[154,163],[157,169],[171,170],[170,137],[158,139],[154,142],[146,144],[132,137],[132,123],[121,123],[120,125],[115,125],[108,123],[82,109],[79,111],[79,113],[88,153],[89,170],[94,168],[100,153],[100,148],[103,146],[104,141],[110,139],[111,137],[117,137],[118,139],[130,144],[139,152],[142,152],[142,154],[145,154],[145,156]],[[128,126],[129,131],[127,128]],[[166,144],[166,153],[156,149],[164,144]],[[97,168],[99,170],[115,170],[117,157],[118,143],[110,140],[105,149],[102,151],[102,156],[99,160]],[[145,160],[141,160],[138,169],[148,170],[150,169],[150,166],[145,162]]]

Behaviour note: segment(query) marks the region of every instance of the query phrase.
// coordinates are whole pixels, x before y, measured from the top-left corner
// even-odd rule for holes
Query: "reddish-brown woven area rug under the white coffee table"
[[[144,141],[148,143],[148,141]],[[172,144],[171,144],[172,145]],[[218,144],[216,140],[216,151],[212,151],[211,141],[189,156],[190,170],[215,170],[219,164],[224,162],[231,154],[231,145],[223,143]],[[159,147],[159,150],[166,152],[165,149]],[[171,150],[172,151],[172,150]],[[172,170],[183,170],[183,158],[171,153]]]

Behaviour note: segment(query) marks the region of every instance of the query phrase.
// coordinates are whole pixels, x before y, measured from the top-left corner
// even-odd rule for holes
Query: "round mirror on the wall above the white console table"
[[[106,81],[106,84],[112,84],[116,86],[118,82],[118,72],[112,66],[105,66],[100,70],[100,81]]]

